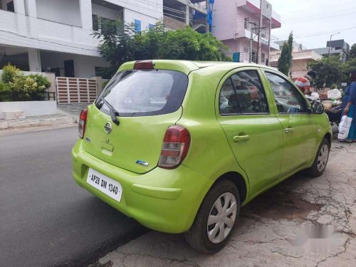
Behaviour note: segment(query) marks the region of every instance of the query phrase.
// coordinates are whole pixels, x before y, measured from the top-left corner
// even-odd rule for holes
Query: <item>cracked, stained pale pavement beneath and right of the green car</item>
[[[328,230],[328,238],[305,238],[308,229]],[[335,141],[321,177],[296,174],[244,206],[218,253],[151,231],[90,267],[99,266],[356,266],[356,143]]]

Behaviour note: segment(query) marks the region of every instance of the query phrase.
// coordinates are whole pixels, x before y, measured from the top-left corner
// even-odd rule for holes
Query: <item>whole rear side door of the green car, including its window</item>
[[[280,177],[283,129],[258,68],[226,74],[216,94],[216,117],[250,183],[250,197]]]

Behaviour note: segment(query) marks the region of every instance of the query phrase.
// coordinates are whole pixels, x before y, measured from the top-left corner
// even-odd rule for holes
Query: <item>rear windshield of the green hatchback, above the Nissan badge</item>
[[[99,101],[103,97],[121,117],[167,114],[182,105],[187,85],[187,75],[179,71],[125,70],[110,80],[95,105],[110,114]]]

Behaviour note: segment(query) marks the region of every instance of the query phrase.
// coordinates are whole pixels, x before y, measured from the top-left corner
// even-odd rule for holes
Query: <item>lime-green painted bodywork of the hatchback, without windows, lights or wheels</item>
[[[273,91],[263,76],[264,69],[272,71],[272,68],[244,63],[161,60],[153,63],[157,69],[177,70],[188,75],[189,83],[182,107],[177,112],[165,115],[119,116],[120,125],[116,129],[116,125],[112,124],[112,132],[119,130],[120,127],[122,127],[120,130],[125,132],[122,131],[120,137],[115,136],[115,140],[110,140],[109,137],[109,142],[105,142],[107,134],[103,127],[105,122],[110,121],[110,116],[92,105],[88,112],[85,137],[88,136],[90,143],[95,144],[91,144],[93,147],[88,152],[90,143],[84,137],[78,140],[72,150],[75,182],[150,229],[168,233],[187,231],[192,226],[206,193],[214,186],[216,179],[227,173],[239,174],[244,179],[247,196],[242,205],[248,203],[261,192],[300,169],[310,167],[313,163],[311,159],[315,157],[321,140],[325,135],[331,134],[327,115],[309,114],[308,118],[295,122],[298,127],[300,125],[300,130],[296,132],[295,140],[294,137],[288,140],[283,132],[284,125],[294,122],[296,117],[283,117],[278,114]],[[125,63],[120,66],[119,71],[130,70],[134,64]],[[268,116],[241,115],[235,119],[219,114],[221,82],[226,75],[242,68],[261,69],[258,71],[270,106]],[[191,136],[189,152],[176,169],[162,169],[157,167],[157,162],[164,132],[169,125],[174,124],[182,125],[189,131]],[[315,129],[310,130],[309,126],[303,125],[312,125]],[[231,137],[239,132],[249,132],[252,136],[249,141],[253,142],[248,141],[246,144],[231,142]],[[305,136],[308,137],[307,141],[303,139]],[[103,155],[102,142],[105,144],[113,142],[113,152],[118,150],[125,155],[115,154],[114,157]],[[305,145],[310,155],[306,156],[305,152],[298,148],[300,143]],[[307,147],[308,145],[310,147]],[[106,145],[105,147],[110,148]],[[145,150],[148,150],[147,154]],[[290,157],[288,151],[297,155]],[[145,158],[139,157],[140,155]],[[296,165],[295,169],[288,173],[284,173],[284,169],[281,172],[283,165],[281,162],[295,160],[296,157],[305,162]],[[305,160],[307,158],[310,159],[309,162]],[[136,164],[135,159],[149,161],[150,167]],[[257,164],[258,169],[253,169]],[[120,202],[86,182],[89,167],[120,182],[122,185]],[[265,173],[262,172],[263,167]]]

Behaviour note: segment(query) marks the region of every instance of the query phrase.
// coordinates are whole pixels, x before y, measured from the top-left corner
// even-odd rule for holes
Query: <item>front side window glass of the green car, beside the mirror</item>
[[[266,72],[276,100],[278,112],[300,113],[306,112],[308,105],[305,99],[288,80],[273,73]]]

